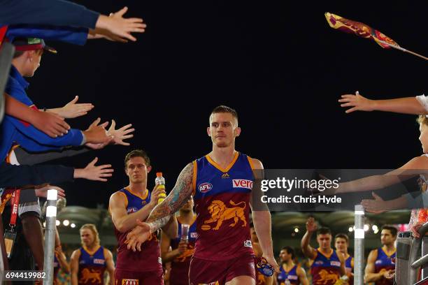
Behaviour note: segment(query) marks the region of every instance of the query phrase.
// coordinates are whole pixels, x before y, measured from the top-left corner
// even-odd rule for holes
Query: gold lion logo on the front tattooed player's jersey
[[[204,224],[211,224],[211,223],[217,222],[217,225],[215,226],[215,228],[213,228],[214,231],[217,231],[220,228],[220,226],[222,226],[223,221],[228,219],[234,219],[234,223],[230,224],[231,227],[236,226],[239,220],[243,222],[242,226],[247,226],[247,221],[245,220],[245,214],[244,214],[246,203],[242,201],[235,204],[234,201],[232,200],[230,200],[229,203],[230,205],[236,206],[236,207],[226,207],[223,201],[213,200],[213,202],[211,202],[211,205],[209,205],[208,207],[208,211],[211,214],[211,219],[204,221]],[[239,206],[240,204],[243,204],[243,207],[240,207]],[[208,225],[205,225],[205,226],[208,226]],[[210,226],[204,227],[203,225],[201,226],[201,228],[204,231],[207,231],[211,227]]]

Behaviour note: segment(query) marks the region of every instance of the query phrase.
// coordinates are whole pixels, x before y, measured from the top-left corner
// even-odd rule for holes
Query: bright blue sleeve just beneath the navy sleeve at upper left
[[[43,40],[85,45],[87,32],[88,29],[86,28],[20,24],[9,26],[6,32],[6,38],[8,38],[9,41],[13,41],[14,38],[22,37],[43,38]]]

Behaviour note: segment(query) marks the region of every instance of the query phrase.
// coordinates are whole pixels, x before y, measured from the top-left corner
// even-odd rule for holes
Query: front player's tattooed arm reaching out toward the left
[[[127,248],[139,251],[141,244],[148,239],[151,233],[159,230],[166,225],[172,214],[183,207],[187,200],[192,196],[193,164],[189,163],[180,175],[176,185],[165,200],[152,210],[145,223],[137,220],[138,226],[127,235]]]

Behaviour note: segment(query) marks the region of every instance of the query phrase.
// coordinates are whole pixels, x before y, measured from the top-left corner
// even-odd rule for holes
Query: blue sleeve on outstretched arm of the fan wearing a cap
[[[77,129],[70,129],[69,133],[64,136],[51,138],[34,126],[23,124],[15,118],[10,118],[10,122],[18,131],[15,142],[30,152],[43,152],[48,149],[58,149],[69,145],[77,147],[83,141],[82,131]]]

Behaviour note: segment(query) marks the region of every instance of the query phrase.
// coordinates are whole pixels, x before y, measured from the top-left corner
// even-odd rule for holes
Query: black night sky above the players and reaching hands
[[[208,116],[236,108],[236,149],[265,168],[397,168],[422,154],[413,115],[345,115],[341,94],[394,98],[427,94],[428,61],[331,29],[329,11],[369,24],[408,50],[428,56],[422,1],[79,1],[108,14],[129,6],[148,24],[137,43],[48,44],[28,94],[39,108],[80,96],[95,108],[69,120],[86,129],[96,119],[136,128],[131,147],[109,146],[55,161],[84,167],[94,156],[115,168],[109,182],[64,184],[68,205],[108,205],[127,185],[124,155],[142,148],[149,176],[162,171],[168,189],[190,161],[211,151]],[[324,3],[326,2],[326,3]],[[417,4],[416,4],[417,3]],[[428,95],[428,94],[427,94]]]

